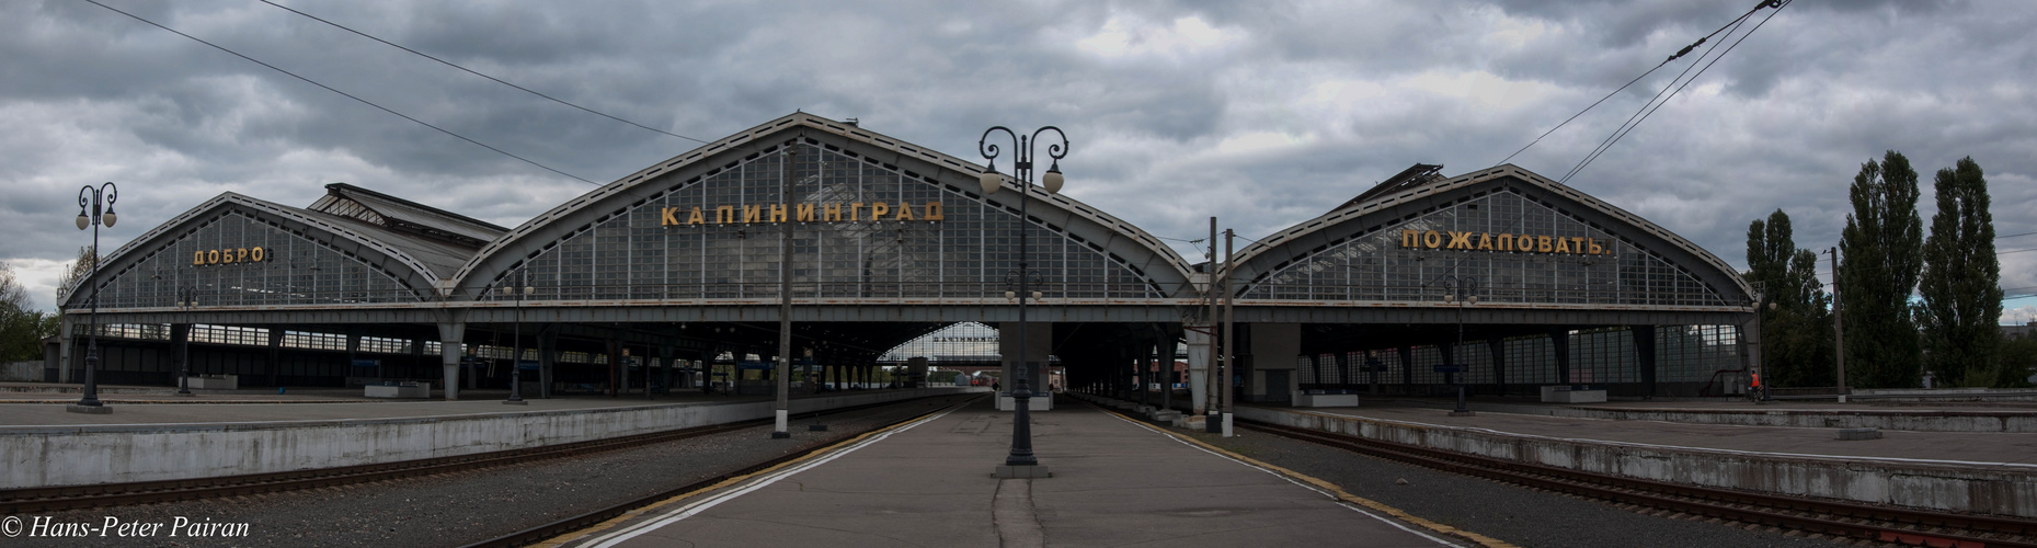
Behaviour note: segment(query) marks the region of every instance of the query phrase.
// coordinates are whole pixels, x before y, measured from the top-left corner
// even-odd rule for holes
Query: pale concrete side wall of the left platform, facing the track
[[[792,412],[972,389],[792,399]],[[283,473],[585,442],[772,418],[772,401],[263,424],[0,428],[0,489]]]

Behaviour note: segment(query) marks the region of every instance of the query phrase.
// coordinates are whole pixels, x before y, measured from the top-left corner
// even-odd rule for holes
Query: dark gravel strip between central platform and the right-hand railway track
[[[1171,432],[1334,483],[1351,495],[1430,522],[1518,546],[1850,546],[1768,528],[1742,530],[1744,526],[1650,515],[1605,501],[1422,469],[1243,428],[1236,438],[1183,428]]]

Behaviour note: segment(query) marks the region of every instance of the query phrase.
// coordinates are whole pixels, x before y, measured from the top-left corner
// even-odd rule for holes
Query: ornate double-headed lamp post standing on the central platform
[[[976,149],[984,155],[984,159],[990,161],[988,165],[990,169],[986,169],[984,175],[978,177],[978,183],[982,185],[984,194],[990,196],[996,194],[1000,187],[1004,187],[1004,175],[998,173],[998,153],[1002,149],[990,143],[990,134],[994,132],[1004,132],[1004,136],[1012,141],[1012,153],[1014,153],[1012,179],[1018,183],[1018,275],[1016,275],[1018,367],[1014,371],[1016,375],[1012,375],[1014,377],[1012,452],[1004,456],[1004,467],[998,467],[996,471],[996,475],[1002,479],[1049,477],[1047,467],[1039,467],[1039,458],[1033,456],[1033,416],[1031,416],[1033,389],[1027,383],[1033,365],[1027,361],[1029,348],[1027,348],[1027,318],[1025,318],[1025,304],[1033,299],[1033,289],[1029,279],[1031,273],[1027,271],[1027,242],[1025,242],[1027,240],[1025,234],[1031,232],[1029,230],[1031,222],[1027,220],[1029,216],[1027,206],[1031,204],[1029,196],[1033,194],[1033,159],[1037,157],[1035,147],[1041,145],[1041,134],[1045,134],[1047,130],[1053,130],[1053,136],[1059,139],[1061,143],[1047,143],[1049,165],[1047,173],[1041,175],[1041,185],[1047,189],[1047,194],[1057,194],[1061,191],[1061,183],[1065,181],[1061,177],[1061,157],[1067,157],[1067,134],[1063,134],[1061,128],[1043,126],[1033,130],[1031,136],[1025,136],[1004,126],[992,126],[984,130],[982,139],[976,141]]]

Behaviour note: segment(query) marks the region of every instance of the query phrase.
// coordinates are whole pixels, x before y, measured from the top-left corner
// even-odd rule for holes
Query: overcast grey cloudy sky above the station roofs
[[[255,0],[102,2],[601,183],[699,145]],[[1259,238],[1412,163],[1489,167],[1752,4],[277,2],[705,141],[807,110],[976,159],[986,126],[1057,124],[1065,194],[1169,238],[1208,216]],[[1835,244],[1888,149],[1929,226],[1933,173],[1972,155],[1996,232],[2037,232],[2029,29],[2033,2],[1795,2],[1571,185],[1744,267],[1776,208],[1799,246]],[[1562,177],[1697,53],[1513,163]],[[346,181],[515,226],[593,189],[81,0],[0,2],[0,261],[45,310],[90,242],[86,183],[120,185],[108,251],[220,191],[310,206]],[[2002,285],[2037,291],[2037,234],[1996,244]]]

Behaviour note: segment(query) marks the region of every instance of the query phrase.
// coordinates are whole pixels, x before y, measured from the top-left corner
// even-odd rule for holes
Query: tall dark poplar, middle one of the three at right
[[[1923,271],[1917,169],[1903,153],[1868,161],[1848,189],[1854,214],[1839,236],[1839,314],[1846,377],[1854,387],[1917,387],[1923,350],[1911,289]]]

